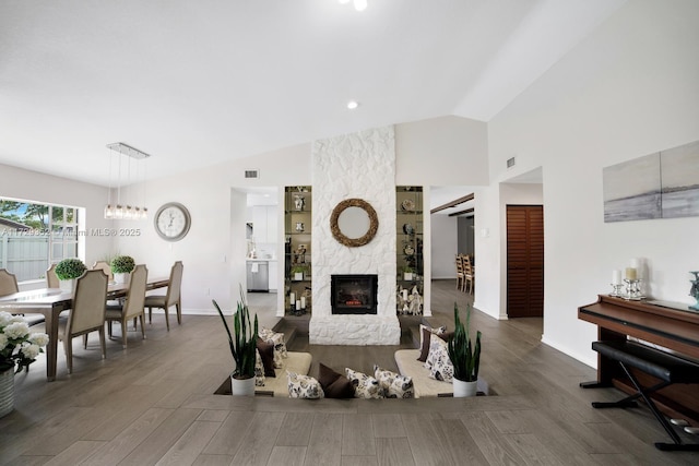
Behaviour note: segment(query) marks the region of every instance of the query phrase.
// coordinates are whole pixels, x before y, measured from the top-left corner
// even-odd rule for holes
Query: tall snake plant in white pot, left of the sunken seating
[[[228,346],[230,355],[236,363],[236,368],[230,374],[230,392],[234,395],[253,396],[254,395],[254,358],[258,340],[258,315],[254,315],[254,327],[250,325],[250,311],[248,303],[240,287],[240,301],[238,309],[233,318],[234,334],[230,334],[228,323],[216,303],[212,299],[223,325],[228,334]]]

